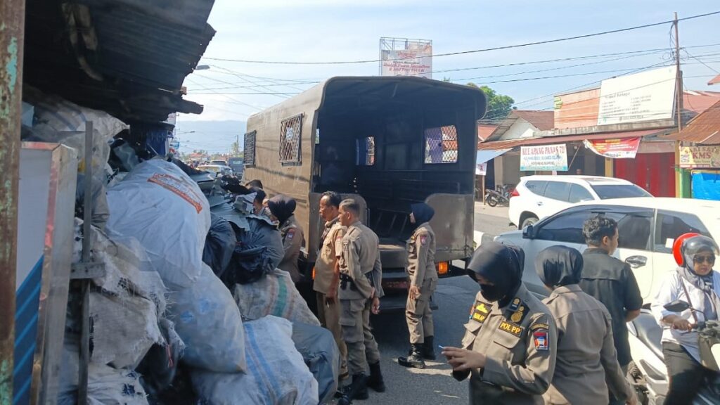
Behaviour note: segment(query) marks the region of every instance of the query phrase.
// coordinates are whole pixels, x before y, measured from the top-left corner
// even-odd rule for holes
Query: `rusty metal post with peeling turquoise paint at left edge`
[[[25,1],[0,1],[0,404],[12,404]]]

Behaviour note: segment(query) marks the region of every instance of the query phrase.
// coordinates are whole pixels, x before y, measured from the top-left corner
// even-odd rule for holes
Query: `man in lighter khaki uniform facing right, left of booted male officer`
[[[323,235],[320,236],[320,252],[315,261],[315,282],[313,290],[318,298],[318,319],[320,324],[333,332],[335,342],[340,350],[340,379],[348,377],[348,348],[343,341],[340,326],[341,307],[338,301],[338,285],[340,267],[336,251],[342,245],[346,228],[340,223],[338,209],[341,197],[336,192],[325,192],[320,197],[320,217],[325,220]]]

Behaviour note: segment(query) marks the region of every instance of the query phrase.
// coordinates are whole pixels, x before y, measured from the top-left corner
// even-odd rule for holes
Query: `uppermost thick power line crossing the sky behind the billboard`
[[[685,17],[678,19],[677,21],[685,21],[688,19],[696,19],[701,17],[708,17],[711,15],[720,14],[720,11],[717,12],[709,12],[705,14],[698,14],[690,17]],[[599,35],[608,35],[608,34],[615,34],[617,32],[625,32],[625,31],[631,31],[631,30],[640,30],[642,28],[648,28],[648,27],[656,27],[658,25],[665,25],[674,23],[675,19],[670,19],[667,21],[662,22],[653,22],[651,24],[645,24],[645,25],[636,25],[634,27],[626,27],[626,28],[620,28],[618,30],[608,30],[603,32],[594,32],[592,34],[585,34],[585,35],[575,35],[573,37],[563,37],[563,38],[556,38],[553,40],[544,40],[544,41],[536,41],[534,43],[523,43],[523,44],[516,44],[516,45],[504,45],[504,46],[498,46],[493,48],[482,48],[482,49],[476,49],[476,50],[462,50],[459,52],[451,52],[451,53],[438,53],[435,55],[430,55],[433,58],[439,58],[442,56],[453,56],[453,55],[466,55],[468,53],[480,53],[480,52],[489,52],[491,50],[503,50],[503,49],[513,49],[513,48],[523,48],[528,46],[534,46],[534,45],[544,45],[549,43],[559,43],[569,40],[578,40],[582,38],[588,38],[588,37],[596,37]],[[203,58],[207,61],[224,61],[224,62],[238,62],[238,63],[263,63],[263,64],[275,64],[275,65],[343,65],[343,64],[357,64],[357,63],[378,63],[381,62],[382,59],[371,59],[371,60],[361,60],[361,61],[325,61],[325,62],[300,62],[300,61],[253,61],[253,60],[246,60],[246,59],[229,59],[229,58]],[[406,59],[415,59],[413,58],[399,58],[399,59],[388,59],[385,61],[402,61]]]

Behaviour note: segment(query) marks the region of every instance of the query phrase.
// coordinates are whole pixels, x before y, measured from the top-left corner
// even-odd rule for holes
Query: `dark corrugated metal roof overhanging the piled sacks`
[[[27,0],[24,79],[129,123],[202,112],[181,86],[215,35],[212,4]]]

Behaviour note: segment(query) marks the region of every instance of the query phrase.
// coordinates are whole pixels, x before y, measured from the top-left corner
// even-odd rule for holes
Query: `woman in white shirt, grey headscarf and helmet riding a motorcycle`
[[[673,248],[678,269],[667,275],[652,303],[652,313],[662,326],[662,355],[670,386],[665,404],[691,404],[706,375],[714,372],[700,363],[698,332],[700,321],[718,319],[720,273],[713,270],[718,245],[707,236],[685,234]],[[692,309],[671,312],[665,304],[680,300]]]

